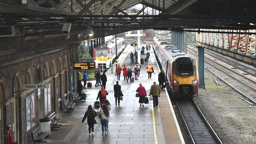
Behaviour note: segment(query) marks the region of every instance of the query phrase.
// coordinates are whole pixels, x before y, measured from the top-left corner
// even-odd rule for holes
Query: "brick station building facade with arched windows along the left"
[[[31,43],[34,39],[0,41],[0,47],[8,49],[0,53],[1,144],[6,143],[8,129],[17,143],[33,143],[31,131],[40,126],[39,119],[54,111],[60,116],[64,101],[72,101],[76,92],[78,72],[73,70],[73,61],[78,59],[78,44],[68,43],[77,38],[60,36],[53,42],[49,37]],[[61,45],[62,41],[66,44]],[[22,84],[38,83],[50,87],[22,89]]]

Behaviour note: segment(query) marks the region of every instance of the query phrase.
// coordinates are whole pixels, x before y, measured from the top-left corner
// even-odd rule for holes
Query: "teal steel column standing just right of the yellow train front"
[[[199,69],[199,88],[205,89],[204,85],[204,47],[198,46],[198,69]]]

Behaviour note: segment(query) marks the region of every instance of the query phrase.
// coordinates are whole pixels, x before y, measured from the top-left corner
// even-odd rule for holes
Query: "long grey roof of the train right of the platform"
[[[170,44],[168,41],[163,39],[161,36],[155,36],[153,41],[158,45],[159,49],[166,55],[170,60],[176,59],[180,56],[190,57],[177,47]]]

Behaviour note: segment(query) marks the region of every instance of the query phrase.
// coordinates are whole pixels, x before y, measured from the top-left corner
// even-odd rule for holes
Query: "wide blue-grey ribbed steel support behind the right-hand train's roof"
[[[186,53],[186,32],[172,31],[172,45]]]

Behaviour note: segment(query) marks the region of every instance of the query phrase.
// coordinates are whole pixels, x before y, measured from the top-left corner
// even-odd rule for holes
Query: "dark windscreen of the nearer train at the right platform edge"
[[[194,75],[193,60],[189,57],[180,57],[175,60],[177,76],[189,77]]]

